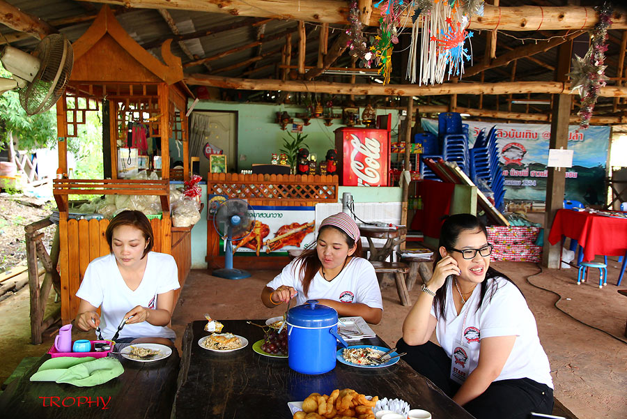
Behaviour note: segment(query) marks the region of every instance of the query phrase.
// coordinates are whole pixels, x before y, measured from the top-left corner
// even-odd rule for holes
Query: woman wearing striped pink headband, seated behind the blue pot
[[[320,224],[316,247],[302,252],[268,282],[261,301],[272,308],[294,296],[299,305],[316,299],[340,316],[361,316],[377,324],[383,312],[381,291],[372,264],[360,254],[355,221],[346,213],[331,215]]]

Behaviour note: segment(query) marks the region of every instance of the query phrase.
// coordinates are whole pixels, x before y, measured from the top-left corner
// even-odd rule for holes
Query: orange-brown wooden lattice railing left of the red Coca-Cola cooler
[[[250,205],[314,206],[337,202],[338,176],[210,173],[207,193],[246,199]]]

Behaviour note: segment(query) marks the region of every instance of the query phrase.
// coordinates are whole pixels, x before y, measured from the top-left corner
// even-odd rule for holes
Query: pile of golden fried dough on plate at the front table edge
[[[369,397],[350,388],[335,389],[331,395],[311,393],[302,402],[289,402],[293,419],[375,419],[372,408],[379,397]]]

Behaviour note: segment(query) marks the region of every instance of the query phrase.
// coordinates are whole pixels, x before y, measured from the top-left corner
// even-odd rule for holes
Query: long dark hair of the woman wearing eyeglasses
[[[440,254],[440,247],[444,247],[447,252],[451,252],[452,249],[457,244],[457,240],[462,231],[482,231],[483,234],[488,238],[488,229],[486,229],[486,225],[483,224],[479,220],[479,218],[475,217],[472,214],[455,214],[447,217],[442,224],[442,228],[440,229],[440,243],[438,243],[438,251],[434,252],[435,260],[433,261],[433,270],[435,271],[435,266],[438,264],[440,260],[442,260],[442,255]],[[444,285],[435,291],[435,298],[433,298],[433,308],[435,309],[435,313],[438,314],[438,317],[442,317],[442,319],[447,319],[447,310],[446,310],[446,300],[447,300],[447,289],[449,287],[449,283],[453,280],[454,275],[449,275],[447,280],[444,281]],[[481,307],[481,303],[483,303],[483,298],[486,296],[486,292],[488,291],[488,280],[495,277],[503,277],[505,280],[511,282],[514,287],[518,288],[518,285],[514,284],[514,282],[507,277],[504,273],[500,273],[495,268],[491,266],[486,271],[486,278],[481,281],[481,296],[479,297],[479,303],[477,303],[477,308],[475,310],[479,310]],[[497,287],[492,287],[490,292],[490,300],[494,296],[497,291]],[[518,288],[520,291],[520,288]],[[522,291],[520,291],[522,294]],[[524,295],[523,295],[524,297]]]

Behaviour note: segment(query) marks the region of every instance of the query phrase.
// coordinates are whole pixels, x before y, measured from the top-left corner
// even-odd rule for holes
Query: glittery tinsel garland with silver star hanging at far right
[[[579,91],[581,107],[578,112],[580,117],[579,130],[585,130],[590,126],[590,118],[598,91],[605,86],[605,51],[607,51],[607,29],[612,25],[612,6],[609,2],[594,8],[598,12],[598,23],[590,33],[590,47],[583,58],[575,55],[573,70],[568,73],[571,77],[571,91]]]

